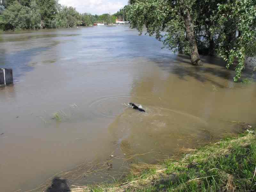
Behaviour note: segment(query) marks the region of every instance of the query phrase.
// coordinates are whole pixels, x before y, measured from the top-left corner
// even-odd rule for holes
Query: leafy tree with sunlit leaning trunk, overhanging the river
[[[173,51],[184,48],[193,65],[202,64],[194,32],[194,0],[135,0],[130,3],[124,11],[131,28],[137,28],[141,34],[145,24],[147,33],[150,36],[156,34],[165,47]]]

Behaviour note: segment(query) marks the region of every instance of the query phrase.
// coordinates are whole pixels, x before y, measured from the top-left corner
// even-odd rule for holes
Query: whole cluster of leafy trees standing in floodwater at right
[[[227,61],[227,68],[237,60],[235,81],[245,58],[255,57],[254,0],[131,0],[123,11],[131,28],[142,34],[146,26],[146,33],[164,47],[190,55],[192,64],[200,60],[198,52],[218,53]]]

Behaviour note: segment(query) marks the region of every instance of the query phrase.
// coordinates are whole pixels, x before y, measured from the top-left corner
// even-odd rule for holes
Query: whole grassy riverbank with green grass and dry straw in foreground
[[[183,157],[162,164],[134,164],[131,174],[112,185],[71,186],[84,191],[255,191],[256,135],[244,133],[197,149],[183,149]]]

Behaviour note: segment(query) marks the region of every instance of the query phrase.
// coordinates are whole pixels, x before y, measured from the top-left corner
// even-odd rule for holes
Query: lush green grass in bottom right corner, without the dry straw
[[[246,141],[245,141],[246,142]],[[245,143],[244,142],[244,143]],[[256,190],[254,177],[256,143],[229,141],[215,147],[206,147],[191,155],[179,166],[165,163],[166,173],[177,172],[174,181],[164,185],[166,191],[250,191]],[[224,149],[227,149],[225,152]],[[180,162],[178,163],[180,164]]]

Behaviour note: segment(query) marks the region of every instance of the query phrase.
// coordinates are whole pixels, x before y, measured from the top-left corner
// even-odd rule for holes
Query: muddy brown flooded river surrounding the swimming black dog
[[[256,123],[255,81],[234,83],[219,58],[197,68],[161,46],[128,26],[1,34],[0,67],[15,83],[0,87],[0,191],[57,173],[73,184],[113,180],[131,163],[237,132],[231,121]],[[89,174],[106,161],[113,169]]]

